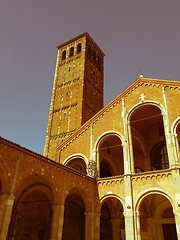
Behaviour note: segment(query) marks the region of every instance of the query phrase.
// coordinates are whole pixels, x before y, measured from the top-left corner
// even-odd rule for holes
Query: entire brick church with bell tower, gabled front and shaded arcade
[[[0,239],[180,240],[180,82],[103,106],[97,43],[57,49],[44,155],[0,138]]]

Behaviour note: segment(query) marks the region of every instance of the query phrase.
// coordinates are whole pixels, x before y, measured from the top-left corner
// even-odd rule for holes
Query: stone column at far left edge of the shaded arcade
[[[14,196],[3,194],[0,196],[0,239],[5,240],[11,221]]]

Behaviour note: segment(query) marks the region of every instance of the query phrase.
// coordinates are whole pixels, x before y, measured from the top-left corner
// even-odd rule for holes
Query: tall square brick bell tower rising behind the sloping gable
[[[44,155],[103,108],[104,53],[88,33],[58,47]]]

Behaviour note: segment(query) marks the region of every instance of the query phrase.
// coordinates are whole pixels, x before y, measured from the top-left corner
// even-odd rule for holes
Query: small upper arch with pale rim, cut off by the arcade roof
[[[73,154],[65,159],[64,165],[87,174],[88,159],[83,154]]]

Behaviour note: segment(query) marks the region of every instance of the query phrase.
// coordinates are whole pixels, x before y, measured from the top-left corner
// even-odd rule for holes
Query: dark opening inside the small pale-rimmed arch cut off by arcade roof
[[[68,161],[66,166],[68,166],[68,167],[70,167],[70,168],[72,168],[72,169],[74,169],[74,170],[76,170],[80,173],[87,174],[86,163],[80,157],[71,159],[70,161]]]

